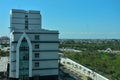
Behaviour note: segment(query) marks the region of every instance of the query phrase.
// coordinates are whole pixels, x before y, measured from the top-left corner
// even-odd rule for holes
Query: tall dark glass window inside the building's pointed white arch
[[[19,76],[21,79],[29,78],[29,46],[23,38],[19,47]]]

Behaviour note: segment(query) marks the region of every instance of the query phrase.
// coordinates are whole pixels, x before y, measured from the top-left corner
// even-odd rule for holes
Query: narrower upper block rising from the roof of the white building
[[[27,15],[28,17],[25,17],[25,15]],[[23,30],[25,29],[25,20],[28,20],[28,29],[41,29],[41,15],[39,11],[24,11],[24,10],[11,11],[10,27],[18,30],[20,29]]]

